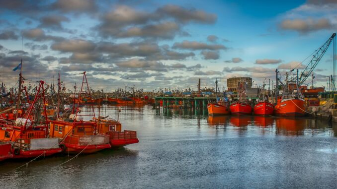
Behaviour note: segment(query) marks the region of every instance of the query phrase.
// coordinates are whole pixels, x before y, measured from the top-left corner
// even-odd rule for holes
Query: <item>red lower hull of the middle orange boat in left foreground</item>
[[[80,152],[84,154],[90,154],[95,153],[103,149],[111,148],[110,144],[99,144],[99,145],[76,145],[76,144],[69,144],[69,143],[63,143],[66,146],[66,149],[64,150],[65,153],[70,154],[78,154]]]

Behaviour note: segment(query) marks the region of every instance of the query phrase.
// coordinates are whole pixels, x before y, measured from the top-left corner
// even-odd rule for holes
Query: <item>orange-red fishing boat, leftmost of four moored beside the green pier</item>
[[[215,92],[216,92],[216,103],[207,104],[208,115],[210,116],[219,116],[230,114],[229,102],[226,97],[226,93],[224,93],[225,99],[218,99],[218,81],[215,79]]]

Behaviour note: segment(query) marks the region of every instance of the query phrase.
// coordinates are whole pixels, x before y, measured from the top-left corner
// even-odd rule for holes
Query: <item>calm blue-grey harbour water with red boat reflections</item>
[[[109,106],[106,115],[117,118],[118,109]],[[72,157],[49,157],[12,172],[27,161],[5,161],[0,188],[337,188],[337,125],[121,109],[120,122],[137,130],[138,144],[61,166]]]

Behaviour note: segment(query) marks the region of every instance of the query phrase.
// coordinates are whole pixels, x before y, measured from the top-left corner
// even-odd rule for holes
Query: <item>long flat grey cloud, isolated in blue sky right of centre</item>
[[[174,43],[173,49],[191,49],[191,50],[227,50],[224,45],[206,44],[196,41],[183,41],[181,43]]]

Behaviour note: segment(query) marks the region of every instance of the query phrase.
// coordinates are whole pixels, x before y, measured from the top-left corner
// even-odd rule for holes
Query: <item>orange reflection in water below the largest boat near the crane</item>
[[[276,132],[282,135],[303,135],[309,121],[307,119],[276,118]]]

